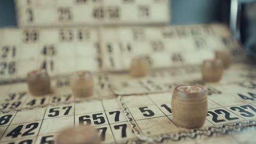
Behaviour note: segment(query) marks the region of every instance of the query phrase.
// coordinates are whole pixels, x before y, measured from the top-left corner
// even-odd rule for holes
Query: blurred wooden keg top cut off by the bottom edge
[[[87,125],[72,127],[63,130],[56,139],[57,144],[100,144],[97,131]]]

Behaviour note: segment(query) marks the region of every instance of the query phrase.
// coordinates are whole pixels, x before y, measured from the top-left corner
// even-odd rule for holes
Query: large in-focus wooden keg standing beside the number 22
[[[200,86],[177,86],[172,95],[174,123],[179,127],[195,129],[205,123],[207,115],[207,96]]]

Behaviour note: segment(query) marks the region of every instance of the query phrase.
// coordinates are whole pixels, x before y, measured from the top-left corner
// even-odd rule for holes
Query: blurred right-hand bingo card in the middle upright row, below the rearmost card
[[[243,57],[225,25],[106,27],[100,33],[104,70],[129,70],[136,56],[146,56],[151,68],[201,64],[224,49]]]

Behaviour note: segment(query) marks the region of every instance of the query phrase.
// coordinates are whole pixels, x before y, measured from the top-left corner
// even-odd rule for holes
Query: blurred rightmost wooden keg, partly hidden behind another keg
[[[224,69],[228,69],[232,63],[232,55],[228,50],[218,50],[215,52],[215,58],[221,59]]]

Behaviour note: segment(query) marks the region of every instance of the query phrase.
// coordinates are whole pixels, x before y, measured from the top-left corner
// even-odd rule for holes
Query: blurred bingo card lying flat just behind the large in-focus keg
[[[251,80],[256,80],[256,67],[243,63],[233,64],[229,70],[224,72],[222,80],[217,83],[206,83],[203,81],[201,67],[198,65],[155,69],[151,70],[148,76],[139,79],[134,79],[129,73],[109,74],[111,89],[117,95],[172,92],[174,87],[179,85],[211,87]],[[219,91],[212,88],[206,90],[208,93],[219,93]]]

